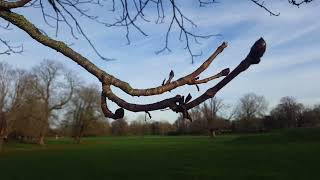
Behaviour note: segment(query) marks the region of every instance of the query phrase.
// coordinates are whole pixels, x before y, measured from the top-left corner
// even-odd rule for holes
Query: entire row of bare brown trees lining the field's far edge
[[[232,108],[211,98],[174,123],[150,120],[109,122],[100,108],[101,90],[86,84],[56,61],[44,60],[30,70],[0,63],[0,145],[4,140],[44,144],[45,136],[74,138],[106,135],[210,135],[263,132],[279,128],[320,126],[320,104],[305,107],[283,97],[268,113],[263,96],[249,93]]]

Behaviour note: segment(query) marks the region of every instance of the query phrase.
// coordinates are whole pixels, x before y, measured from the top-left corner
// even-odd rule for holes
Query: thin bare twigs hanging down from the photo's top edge
[[[263,8],[269,12],[270,15],[278,16],[279,13],[274,13],[271,9],[265,6],[263,0],[250,0],[255,5]],[[295,6],[301,4],[307,4],[313,0],[288,0],[288,2]],[[155,8],[157,13],[156,24],[163,23],[165,19],[169,20],[168,28],[165,34],[164,46],[156,53],[162,53],[164,51],[171,52],[169,47],[170,34],[173,31],[173,27],[177,27],[180,31],[179,40],[185,44],[186,51],[191,56],[191,62],[194,62],[194,58],[202,55],[202,53],[196,53],[193,50],[193,44],[198,44],[201,39],[208,39],[214,35],[200,35],[194,33],[191,28],[197,27],[190,17],[187,17],[181,10],[181,5],[177,5],[177,0],[119,0],[111,2],[101,0],[0,0],[0,10],[10,10],[19,7],[34,7],[41,9],[44,22],[51,28],[55,28],[55,35],[59,34],[59,27],[61,23],[64,23],[70,30],[71,35],[78,39],[77,34],[82,36],[94,52],[103,60],[114,60],[101,54],[90,37],[83,29],[83,25],[80,23],[79,17],[84,17],[94,22],[104,24],[106,27],[124,27],[126,30],[127,43],[130,44],[130,31],[135,29],[142,35],[147,36],[147,33],[139,25],[141,21],[151,22],[147,19],[145,11]],[[198,0],[199,7],[205,7],[211,4],[218,3],[216,0]],[[92,15],[93,11],[90,11],[90,7],[103,7],[111,6],[111,11],[119,13],[120,17],[115,22],[106,23],[98,16]],[[166,10],[166,11],[165,11]],[[191,27],[191,28],[190,28]],[[45,33],[43,31],[43,33]],[[171,40],[172,41],[172,40]]]

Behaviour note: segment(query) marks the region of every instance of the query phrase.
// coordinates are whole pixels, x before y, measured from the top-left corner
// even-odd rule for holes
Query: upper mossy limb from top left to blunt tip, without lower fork
[[[56,41],[42,34],[39,31],[39,29],[35,27],[32,23],[30,23],[24,16],[10,11],[0,11],[0,17],[18,26],[20,29],[24,30],[33,39],[40,42],[41,44],[55,49],[56,51],[69,57],[71,60],[73,60],[74,62],[82,66],[84,69],[86,69],[89,73],[96,76],[102,83],[116,86],[132,96],[152,96],[162,94],[164,92],[168,92],[172,89],[193,82],[199,74],[201,74],[204,70],[206,70],[209,67],[212,61],[224,50],[224,48],[227,47],[227,43],[222,43],[216,49],[216,51],[198,69],[196,69],[191,74],[184,76],[176,81],[172,81],[170,83],[165,84],[164,86],[158,86],[155,88],[134,89],[130,86],[129,83],[121,81],[120,79],[117,79],[116,77],[98,68],[96,65],[91,63],[90,60],[88,60],[78,52],[68,47],[64,42]]]

